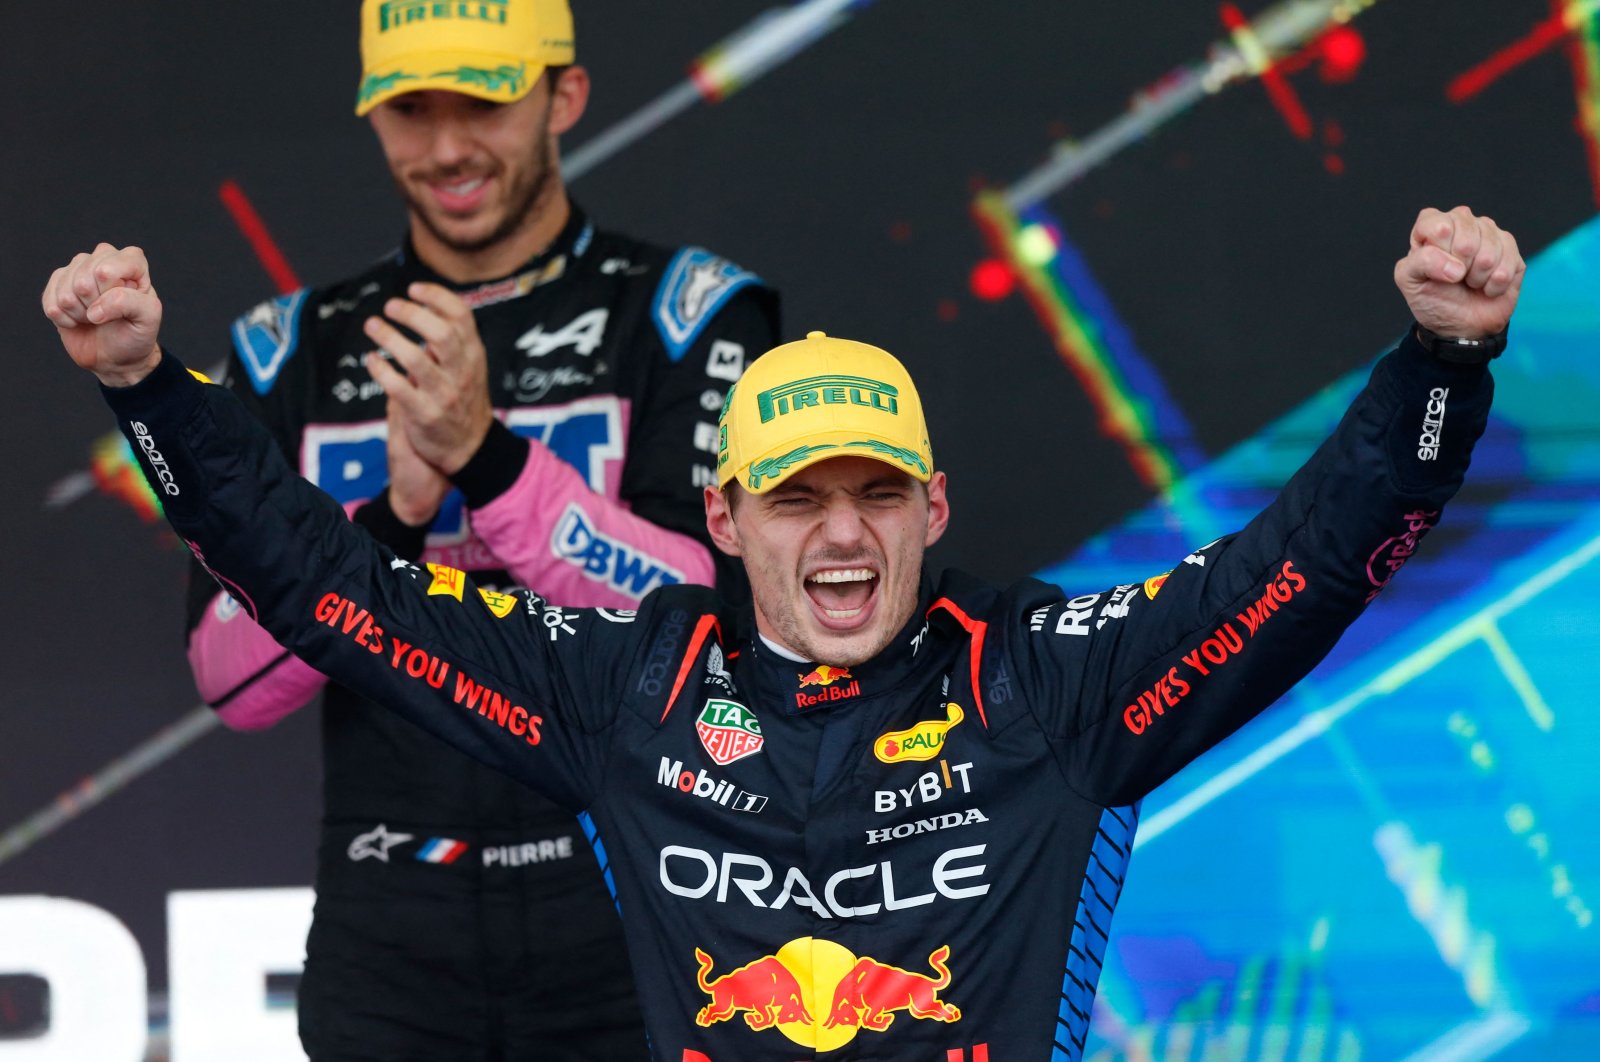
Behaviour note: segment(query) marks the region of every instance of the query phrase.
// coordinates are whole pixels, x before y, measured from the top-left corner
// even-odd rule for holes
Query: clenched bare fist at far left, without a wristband
[[[162,301],[136,246],[75,256],[50,275],[42,304],[72,360],[107,387],[138,384],[162,360]]]

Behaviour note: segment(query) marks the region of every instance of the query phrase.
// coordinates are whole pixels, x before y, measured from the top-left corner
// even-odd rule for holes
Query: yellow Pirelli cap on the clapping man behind
[[[574,54],[566,0],[363,0],[355,114],[424,88],[509,104]]]

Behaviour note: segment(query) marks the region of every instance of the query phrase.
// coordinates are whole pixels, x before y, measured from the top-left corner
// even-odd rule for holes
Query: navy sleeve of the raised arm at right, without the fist
[[[1440,520],[1491,395],[1408,337],[1259,517],[1136,595],[1090,657],[1085,795],[1138,798],[1309,673]]]

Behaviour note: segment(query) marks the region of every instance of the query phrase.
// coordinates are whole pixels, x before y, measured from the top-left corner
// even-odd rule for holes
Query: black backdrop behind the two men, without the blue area
[[[595,91],[568,149],[763,10],[574,6]],[[1354,80],[1293,75],[1310,141],[1259,83],[1235,85],[1048,200],[1208,453],[1405,328],[1390,269],[1421,206],[1470,203],[1530,256],[1594,214],[1558,50],[1462,106],[1445,98],[1450,78],[1549,11],[1386,0],[1354,24],[1368,46]],[[352,115],[355,34],[355,5],[328,0],[0,13],[0,828],[195,704],[179,550],[102,494],[42,504],[86,467],[110,417],[38,293],[75,251],[138,243],[166,304],[163,339],[208,365],[227,323],[272,294],[218,198],[222,181],[250,195],[304,283],[392,246],[403,218]],[[955,521],[934,560],[1011,579],[1149,491],[1021,296],[968,291],[989,254],[973,192],[1018,179],[1054,139],[1117,117],[1221,37],[1208,3],[878,0],[573,190],[610,227],[701,243],[779,285],[789,337],[822,328],[899,353],[952,481]],[[1325,166],[1331,150],[1341,174]],[[0,865],[0,894],[107,908],[160,985],[168,891],[310,881],[318,777],[314,712],[266,734],[211,734]]]

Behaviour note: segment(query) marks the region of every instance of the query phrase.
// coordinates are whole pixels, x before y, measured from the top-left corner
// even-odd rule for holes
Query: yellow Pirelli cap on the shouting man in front
[[[808,333],[773,347],[722,405],[717,483],[765,494],[829,457],[874,457],[922,480],[933,448],[910,373],[878,347]]]

